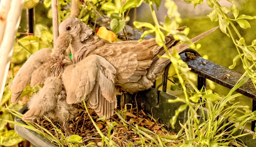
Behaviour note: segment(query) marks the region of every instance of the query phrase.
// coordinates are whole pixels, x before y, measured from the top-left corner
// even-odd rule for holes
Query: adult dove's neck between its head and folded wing
[[[87,40],[81,42],[79,39],[73,39],[70,44],[70,50],[72,53],[73,63],[77,63],[87,57],[90,52],[94,51],[98,47],[105,45],[108,42],[105,39],[100,38],[98,35],[90,36]],[[109,43],[109,42],[108,42]]]

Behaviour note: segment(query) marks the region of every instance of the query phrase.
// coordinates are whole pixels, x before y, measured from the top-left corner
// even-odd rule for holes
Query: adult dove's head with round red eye
[[[93,35],[94,31],[88,27],[84,22],[75,17],[65,19],[59,26],[60,34],[69,32],[73,41],[83,42]]]

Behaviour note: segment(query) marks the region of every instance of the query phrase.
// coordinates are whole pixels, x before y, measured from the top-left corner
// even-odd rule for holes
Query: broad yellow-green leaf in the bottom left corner
[[[9,130],[1,134],[1,144],[4,146],[13,146],[23,141],[23,138],[14,130]]]

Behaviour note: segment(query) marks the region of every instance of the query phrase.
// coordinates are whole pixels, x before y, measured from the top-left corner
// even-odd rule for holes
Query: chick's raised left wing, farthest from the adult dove
[[[35,52],[19,69],[10,84],[10,89],[12,91],[11,102],[13,104],[18,102],[22,94],[22,90],[29,85],[30,82],[32,86],[43,83],[45,77],[51,71],[48,68],[48,66],[51,66],[47,63],[50,61],[50,53],[51,50],[49,48],[43,48]]]

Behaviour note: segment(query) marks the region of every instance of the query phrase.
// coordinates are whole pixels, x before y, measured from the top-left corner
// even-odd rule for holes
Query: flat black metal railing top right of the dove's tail
[[[229,89],[232,89],[237,80],[242,76],[240,73],[234,72],[200,56],[196,56],[196,59],[189,59],[185,56],[185,53],[183,53],[180,57],[192,68],[192,72]],[[228,77],[227,74],[230,75],[230,77]],[[256,100],[256,89],[251,80],[241,85],[236,92]]]

